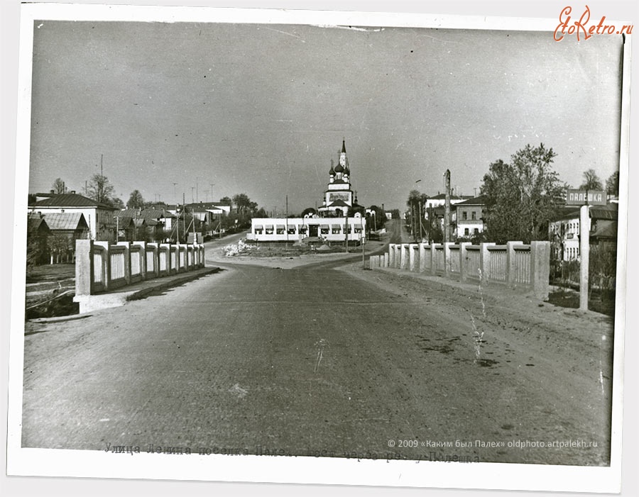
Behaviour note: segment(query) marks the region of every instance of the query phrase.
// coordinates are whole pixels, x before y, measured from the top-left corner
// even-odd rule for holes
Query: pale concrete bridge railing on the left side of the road
[[[93,295],[204,267],[204,245],[75,242],[75,294]]]

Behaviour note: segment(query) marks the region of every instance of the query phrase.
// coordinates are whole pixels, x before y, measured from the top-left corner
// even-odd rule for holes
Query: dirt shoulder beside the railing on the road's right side
[[[416,306],[428,305],[441,315],[457,316],[458,329],[449,330],[450,336],[461,337],[468,347],[474,347],[481,366],[520,376],[530,389],[542,392],[552,414],[572,420],[570,429],[587,427],[600,448],[599,457],[588,464],[609,464],[611,317],[553,306],[499,287],[480,288],[393,269],[364,271],[359,264],[338,269]],[[446,352],[441,344],[425,343],[432,350]],[[506,355],[508,360],[501,359]],[[564,428],[569,430],[559,427],[559,432]]]

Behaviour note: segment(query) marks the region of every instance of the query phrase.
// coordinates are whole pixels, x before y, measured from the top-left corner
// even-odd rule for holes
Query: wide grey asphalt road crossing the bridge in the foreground
[[[23,447],[608,464],[597,372],[492,336],[498,319],[479,341],[479,301],[337,265],[226,265],[34,325]]]

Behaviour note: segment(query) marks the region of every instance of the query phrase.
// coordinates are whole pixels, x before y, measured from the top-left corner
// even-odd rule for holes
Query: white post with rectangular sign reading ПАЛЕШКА
[[[579,208],[579,310],[588,311],[590,267],[590,213],[589,206],[605,206],[606,192],[601,190],[568,189],[567,206]]]

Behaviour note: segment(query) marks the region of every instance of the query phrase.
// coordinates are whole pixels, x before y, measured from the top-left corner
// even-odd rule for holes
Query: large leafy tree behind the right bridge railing
[[[481,186],[486,196],[486,240],[529,243],[548,239],[548,223],[565,191],[552,169],[556,156],[552,148],[540,143],[515,152],[510,164],[500,159],[490,165]]]

